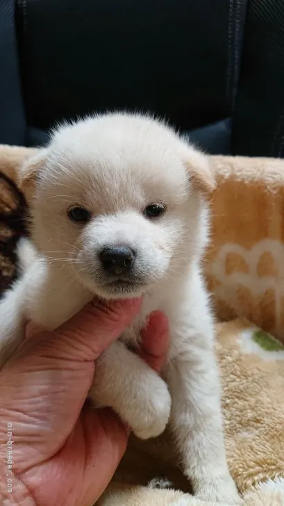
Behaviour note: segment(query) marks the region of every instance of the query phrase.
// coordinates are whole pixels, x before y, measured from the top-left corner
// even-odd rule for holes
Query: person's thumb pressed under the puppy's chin
[[[52,332],[30,326],[26,345],[33,354],[76,361],[94,361],[119,337],[140,310],[141,299],[93,300]],[[28,348],[30,346],[28,345]]]

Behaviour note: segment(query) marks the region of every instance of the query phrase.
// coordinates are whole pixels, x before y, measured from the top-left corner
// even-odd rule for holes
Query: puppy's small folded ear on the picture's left
[[[33,199],[37,175],[47,158],[47,148],[38,149],[33,156],[26,158],[19,169],[17,186],[24,193],[27,202]]]

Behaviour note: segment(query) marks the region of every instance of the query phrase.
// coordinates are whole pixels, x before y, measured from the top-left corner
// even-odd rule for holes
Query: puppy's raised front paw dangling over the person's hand
[[[169,421],[171,402],[167,384],[158,375],[153,375],[147,399],[140,402],[133,420],[128,416],[128,423],[135,436],[140,439],[160,436]]]

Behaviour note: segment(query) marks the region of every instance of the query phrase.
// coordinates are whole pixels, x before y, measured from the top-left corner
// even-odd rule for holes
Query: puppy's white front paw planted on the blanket
[[[231,475],[206,478],[206,480],[200,483],[196,496],[201,500],[233,506],[243,504],[243,500],[237,492],[237,487]]]

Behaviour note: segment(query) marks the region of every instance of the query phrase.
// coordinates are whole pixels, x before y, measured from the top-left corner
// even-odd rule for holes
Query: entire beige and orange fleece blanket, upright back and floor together
[[[0,147],[0,170],[17,181],[29,153]],[[216,350],[228,462],[245,506],[284,506],[284,346],[271,335],[284,343],[284,161],[212,156],[211,162],[218,185],[204,268],[223,320]],[[169,488],[153,488],[155,479]],[[217,506],[189,490],[170,434],[132,438],[97,506]]]

